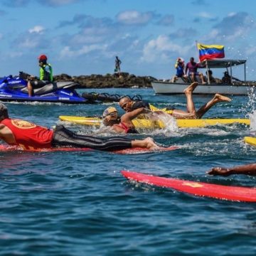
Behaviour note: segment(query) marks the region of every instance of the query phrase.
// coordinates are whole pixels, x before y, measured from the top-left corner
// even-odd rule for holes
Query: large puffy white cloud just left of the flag
[[[169,60],[170,53],[186,55],[190,49],[190,46],[180,46],[171,42],[168,36],[159,36],[158,38],[146,43],[141,60],[149,63],[156,60],[166,61]]]

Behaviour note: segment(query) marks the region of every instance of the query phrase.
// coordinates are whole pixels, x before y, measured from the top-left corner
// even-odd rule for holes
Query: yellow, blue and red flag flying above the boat
[[[199,50],[199,60],[210,60],[214,58],[224,58],[224,46],[210,45],[206,46],[201,43],[197,44]]]

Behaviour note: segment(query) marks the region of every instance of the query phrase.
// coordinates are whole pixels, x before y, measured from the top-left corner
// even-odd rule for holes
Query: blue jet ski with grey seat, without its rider
[[[27,81],[25,73],[18,76],[1,78],[0,101],[6,102],[61,102],[68,104],[90,103],[90,100],[81,97],[75,88],[78,82],[53,82],[41,88],[34,89],[34,96],[28,97]]]

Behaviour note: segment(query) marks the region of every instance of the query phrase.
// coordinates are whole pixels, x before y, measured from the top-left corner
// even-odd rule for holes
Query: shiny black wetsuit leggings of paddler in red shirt
[[[73,146],[76,148],[90,148],[104,151],[131,149],[132,139],[124,137],[111,137],[109,139],[79,135],[58,125],[53,133],[52,146]]]

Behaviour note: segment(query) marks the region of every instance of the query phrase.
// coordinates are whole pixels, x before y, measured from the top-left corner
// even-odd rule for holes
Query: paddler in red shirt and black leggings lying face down
[[[103,151],[131,149],[162,149],[153,139],[128,139],[112,137],[103,139],[71,132],[63,127],[55,129],[41,127],[21,119],[10,119],[7,107],[0,103],[0,139],[9,145],[21,146],[25,150],[49,149],[54,147],[90,148]]]

